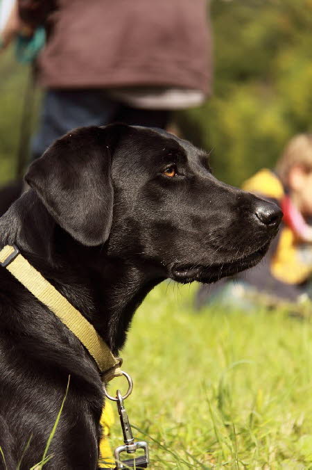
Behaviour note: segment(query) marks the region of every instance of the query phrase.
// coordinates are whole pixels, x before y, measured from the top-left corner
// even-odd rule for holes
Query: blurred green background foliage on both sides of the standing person
[[[238,185],[311,130],[312,0],[211,0],[211,17],[214,95],[177,121],[212,149],[215,174]],[[1,54],[0,183],[15,174],[27,73],[12,51]]]

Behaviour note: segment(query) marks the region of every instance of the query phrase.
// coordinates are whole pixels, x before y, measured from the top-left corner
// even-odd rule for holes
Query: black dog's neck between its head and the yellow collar
[[[86,247],[55,224],[31,190],[0,222],[5,243],[16,243],[74,307],[94,324],[114,353],[123,346],[133,314],[164,277],[139,259],[108,254],[108,243]],[[3,239],[3,238],[2,238]]]

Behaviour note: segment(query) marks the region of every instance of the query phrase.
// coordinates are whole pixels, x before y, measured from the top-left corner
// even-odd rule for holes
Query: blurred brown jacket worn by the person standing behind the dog
[[[21,17],[34,26],[49,15],[51,33],[38,58],[43,86],[210,91],[205,0],[58,0],[57,8],[53,3],[19,0]]]

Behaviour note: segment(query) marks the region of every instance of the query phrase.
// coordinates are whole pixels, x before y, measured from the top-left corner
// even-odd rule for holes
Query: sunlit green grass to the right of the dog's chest
[[[312,469],[311,323],[277,311],[196,314],[196,289],[152,291],[122,354],[135,382],[125,406],[151,467]],[[116,413],[112,444],[121,441]]]

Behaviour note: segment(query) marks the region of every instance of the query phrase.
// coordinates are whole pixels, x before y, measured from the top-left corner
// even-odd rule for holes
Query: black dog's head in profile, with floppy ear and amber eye
[[[105,243],[109,256],[179,282],[254,266],[281,221],[276,204],[218,181],[205,152],[158,129],[76,129],[31,165],[26,181],[83,245]]]

